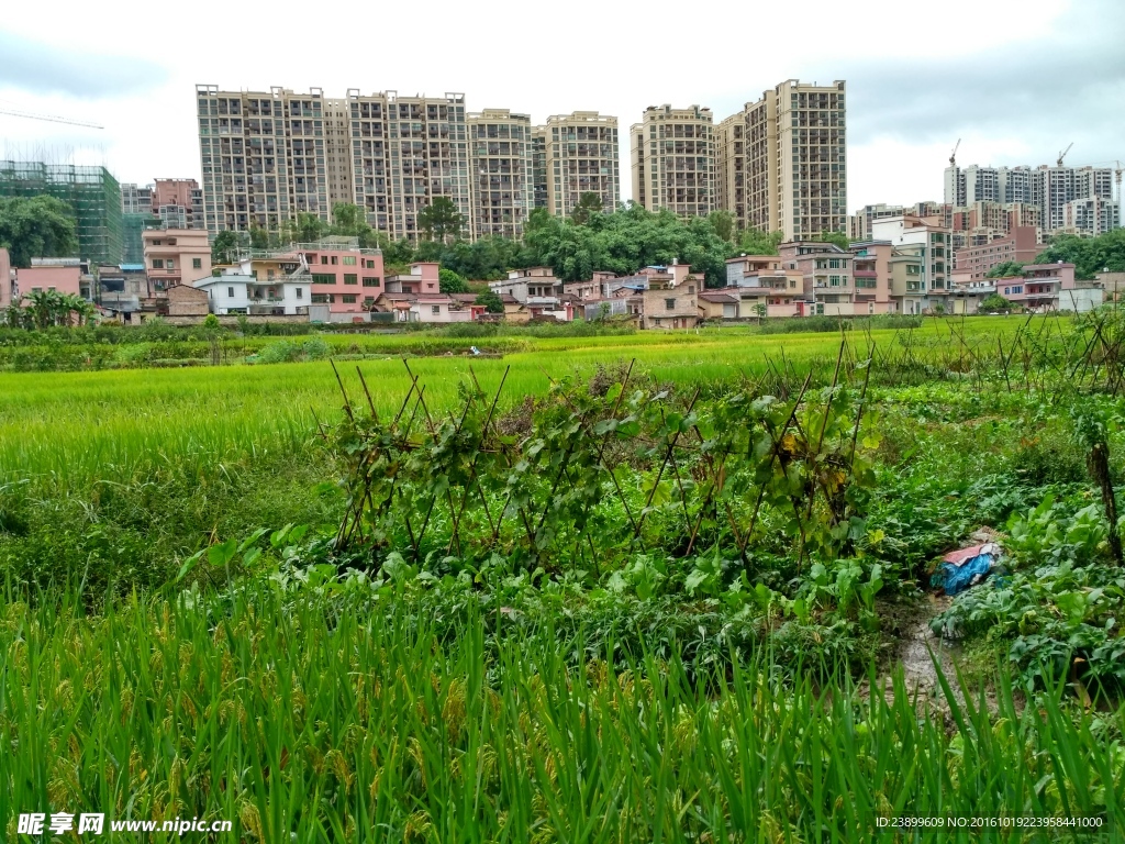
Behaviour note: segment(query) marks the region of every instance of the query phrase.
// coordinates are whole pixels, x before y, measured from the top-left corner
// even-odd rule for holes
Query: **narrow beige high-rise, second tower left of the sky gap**
[[[476,236],[521,237],[534,207],[531,117],[492,108],[466,124]]]

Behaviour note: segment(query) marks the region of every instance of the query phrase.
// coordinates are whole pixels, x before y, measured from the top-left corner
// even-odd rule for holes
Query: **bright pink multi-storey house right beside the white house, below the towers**
[[[361,249],[353,239],[326,237],[302,244],[297,252],[313,277],[313,304],[327,305],[331,313],[370,311],[385,289],[382,252]]]

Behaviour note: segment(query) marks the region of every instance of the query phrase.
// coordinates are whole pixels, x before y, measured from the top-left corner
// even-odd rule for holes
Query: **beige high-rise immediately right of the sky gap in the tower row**
[[[633,201],[649,210],[702,217],[717,207],[710,108],[649,106],[630,129]]]

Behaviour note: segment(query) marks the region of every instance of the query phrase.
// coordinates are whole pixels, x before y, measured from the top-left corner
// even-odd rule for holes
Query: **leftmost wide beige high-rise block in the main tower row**
[[[204,219],[214,236],[277,230],[297,214],[328,218],[324,93],[196,86]]]

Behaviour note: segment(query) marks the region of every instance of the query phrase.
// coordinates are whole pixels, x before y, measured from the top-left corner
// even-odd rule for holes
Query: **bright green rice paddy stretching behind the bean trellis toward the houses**
[[[936,350],[961,342],[991,347],[1015,333],[1023,320],[984,317],[965,322],[928,321],[911,332],[912,342]],[[952,326],[952,327],[951,327]],[[861,350],[868,340],[893,351],[901,332],[853,332]],[[424,334],[390,338],[404,354],[431,340]],[[636,359],[660,380],[700,384],[755,377],[766,359],[784,358],[798,367],[820,363],[830,370],[840,336],[754,334],[742,330],[699,334],[646,332],[623,336],[519,338],[526,351],[502,359],[411,358],[412,371],[426,385],[432,410],[448,406],[471,367],[486,389],[511,371],[503,401],[515,403],[543,393],[550,378],[586,375],[596,367]],[[388,338],[332,336],[341,349]],[[448,342],[444,341],[444,342]],[[465,340],[468,349],[484,341]],[[358,390],[356,363],[341,363],[345,384]],[[379,410],[397,408],[410,376],[402,360],[363,360],[359,369]],[[0,372],[0,482],[35,478],[53,488],[83,486],[93,478],[114,481],[146,466],[186,461],[201,467],[222,461],[261,459],[276,451],[303,459],[300,450],[315,430],[314,414],[332,421],[341,406],[340,387],[325,362],[188,369],[127,369],[97,372]]]

